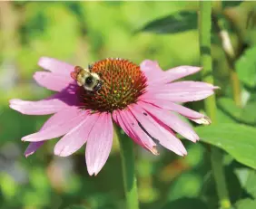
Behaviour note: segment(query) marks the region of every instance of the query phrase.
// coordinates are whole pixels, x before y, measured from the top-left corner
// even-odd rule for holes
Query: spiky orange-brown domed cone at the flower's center
[[[88,93],[81,87],[78,96],[85,109],[99,112],[113,112],[125,109],[135,103],[146,88],[146,77],[140,67],[133,62],[120,58],[108,58],[94,62],[92,72],[100,75],[102,88]]]

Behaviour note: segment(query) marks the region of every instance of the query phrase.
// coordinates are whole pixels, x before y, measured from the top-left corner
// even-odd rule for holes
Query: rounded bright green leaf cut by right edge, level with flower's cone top
[[[235,63],[239,79],[247,86],[256,86],[256,47],[252,47]]]

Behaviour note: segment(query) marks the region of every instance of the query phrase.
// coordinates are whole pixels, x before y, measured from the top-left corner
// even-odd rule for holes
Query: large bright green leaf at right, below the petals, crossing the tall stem
[[[256,168],[256,128],[217,124],[196,128],[201,140],[220,147],[243,165]]]

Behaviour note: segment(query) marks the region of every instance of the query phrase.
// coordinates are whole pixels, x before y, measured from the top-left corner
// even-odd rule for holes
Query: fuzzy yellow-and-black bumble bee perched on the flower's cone
[[[89,69],[84,69],[80,66],[75,66],[74,71],[71,72],[71,77],[77,82],[78,86],[83,86],[84,90],[96,92],[103,86],[103,81],[100,76]]]

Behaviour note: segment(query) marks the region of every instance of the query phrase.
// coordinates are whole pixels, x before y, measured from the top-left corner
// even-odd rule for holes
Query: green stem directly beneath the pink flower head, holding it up
[[[139,209],[137,179],[135,176],[134,166],[133,140],[125,137],[121,133],[121,129],[116,125],[115,133],[120,144],[126,209]]]

